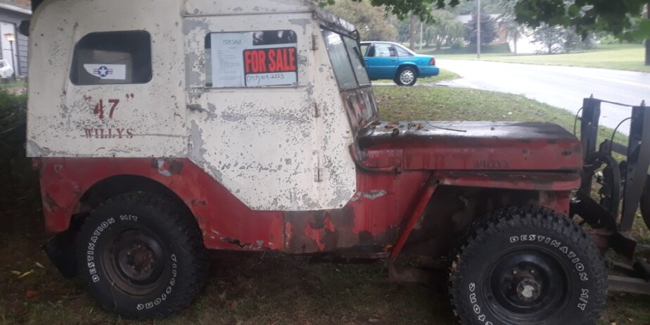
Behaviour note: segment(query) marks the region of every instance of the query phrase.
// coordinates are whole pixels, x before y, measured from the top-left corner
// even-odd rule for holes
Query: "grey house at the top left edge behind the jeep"
[[[31,16],[30,1],[0,0],[0,59],[6,60],[18,76],[27,76],[27,37],[20,34],[18,26]],[[13,34],[15,40],[10,42],[7,34]]]

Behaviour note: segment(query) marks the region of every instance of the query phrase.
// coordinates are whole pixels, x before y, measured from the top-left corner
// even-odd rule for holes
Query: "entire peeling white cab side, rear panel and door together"
[[[314,11],[314,2],[301,0],[46,2],[32,20],[28,155],[190,158],[254,210],[342,207],[356,189],[352,130]],[[151,34],[151,82],[73,85],[75,44],[117,30]],[[297,85],[205,87],[208,33],[265,30],[297,34]],[[110,98],[120,99],[115,115],[98,119],[95,103]]]

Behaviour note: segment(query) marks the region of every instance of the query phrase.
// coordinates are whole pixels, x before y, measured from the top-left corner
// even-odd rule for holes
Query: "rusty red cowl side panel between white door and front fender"
[[[357,172],[357,193],[342,209],[286,212],[286,252],[389,252],[431,172]]]

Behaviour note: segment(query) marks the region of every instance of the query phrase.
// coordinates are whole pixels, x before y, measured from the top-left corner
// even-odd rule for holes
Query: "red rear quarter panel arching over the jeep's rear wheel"
[[[44,215],[50,231],[68,229],[79,199],[91,186],[127,174],[153,179],[176,193],[196,217],[208,248],[282,249],[282,212],[250,210],[189,160],[42,158],[40,165]]]

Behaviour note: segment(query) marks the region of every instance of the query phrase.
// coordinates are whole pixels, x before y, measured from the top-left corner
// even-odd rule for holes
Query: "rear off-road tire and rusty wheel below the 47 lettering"
[[[166,317],[207,277],[196,220],[165,196],[126,193],[91,212],[77,234],[79,274],[101,307],[130,319]]]

